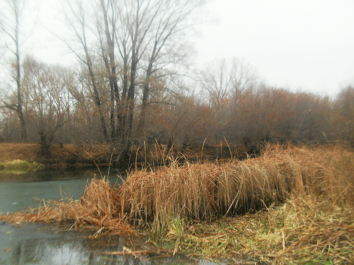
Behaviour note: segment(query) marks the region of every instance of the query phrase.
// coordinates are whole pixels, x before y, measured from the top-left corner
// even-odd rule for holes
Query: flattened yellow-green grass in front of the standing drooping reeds
[[[183,232],[172,223],[164,243],[176,253],[246,256],[268,264],[353,263],[352,213],[331,211],[318,201],[309,206],[313,199],[294,198],[268,211],[188,224]]]

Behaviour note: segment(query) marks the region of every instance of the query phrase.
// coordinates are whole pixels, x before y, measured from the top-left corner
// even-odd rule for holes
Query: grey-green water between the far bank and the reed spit
[[[101,169],[106,176],[108,169]],[[121,179],[117,176],[121,171],[110,169],[109,180],[112,184]],[[60,187],[63,198],[79,199],[85,191],[87,181],[93,177],[101,178],[97,169],[40,171],[31,178],[0,181],[0,213],[16,212],[29,207],[38,207],[42,200],[60,199]]]

